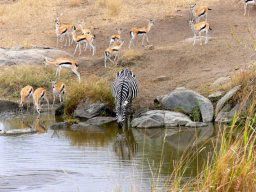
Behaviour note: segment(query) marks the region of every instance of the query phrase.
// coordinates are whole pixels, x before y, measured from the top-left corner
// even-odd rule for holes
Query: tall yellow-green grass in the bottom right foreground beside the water
[[[252,108],[255,105],[251,106]],[[256,114],[251,113],[243,126],[237,126],[233,120],[230,127],[220,127],[214,144],[214,154],[210,155],[205,165],[200,165],[202,172],[196,178],[183,179],[184,172],[189,168],[191,156],[199,155],[203,148],[194,150],[190,159],[184,157],[177,163],[170,181],[169,191],[216,191],[236,192],[256,190]]]

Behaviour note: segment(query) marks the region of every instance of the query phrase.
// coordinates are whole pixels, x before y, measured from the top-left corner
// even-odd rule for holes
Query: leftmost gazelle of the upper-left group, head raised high
[[[63,41],[66,37],[65,45],[67,45],[67,42],[70,46],[70,35],[71,35],[71,29],[74,25],[72,23],[68,24],[61,24],[60,22],[60,16],[57,16],[55,20],[55,32],[57,35],[57,47],[59,45],[59,41]]]

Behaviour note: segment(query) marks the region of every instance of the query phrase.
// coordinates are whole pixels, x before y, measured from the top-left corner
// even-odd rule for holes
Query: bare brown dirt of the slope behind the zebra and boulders
[[[209,12],[208,21],[213,30],[209,33],[209,43],[202,46],[199,43],[193,46],[189,39],[193,34],[187,23],[188,9],[176,10],[174,16],[155,16],[155,25],[149,33],[150,44],[154,45],[154,49],[144,50],[138,46],[135,50],[143,55],[131,66],[140,87],[140,95],[135,102],[137,105],[150,105],[156,96],[167,94],[175,87],[183,86],[206,93],[214,80],[233,75],[254,63],[250,57],[254,54],[256,10],[251,8],[250,15],[243,16],[243,5],[234,1],[218,1],[211,3],[210,7],[212,10]],[[89,17],[95,15],[88,15]],[[82,56],[77,56],[81,61],[82,78],[86,79],[86,76],[92,73],[107,76],[120,69],[110,63],[104,68],[103,51],[108,46],[109,36],[115,32],[116,27],[123,28],[125,45],[122,53],[125,53],[129,44],[129,29],[144,25],[145,22],[144,17],[137,17],[133,18],[132,22],[103,22],[95,28],[96,55],[91,56],[87,51]],[[54,24],[51,27],[52,32],[46,30],[44,38],[40,37],[37,41],[36,36],[33,36],[33,44],[55,47]],[[5,23],[2,24],[1,30],[0,39],[4,40],[4,32],[11,31]],[[26,32],[20,30],[20,33]],[[73,50],[74,46],[67,48],[70,53],[73,53]],[[92,61],[94,65],[86,67],[85,60]],[[153,81],[159,76],[167,76],[168,79]]]

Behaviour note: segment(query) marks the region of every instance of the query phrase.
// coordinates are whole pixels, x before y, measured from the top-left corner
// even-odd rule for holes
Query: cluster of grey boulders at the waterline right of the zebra
[[[241,110],[240,104],[230,102],[240,88],[241,86],[236,86],[226,94],[216,92],[208,98],[184,87],[176,88],[169,94],[155,99],[155,103],[163,110],[151,110],[141,114],[133,119],[132,127],[202,127],[213,121],[229,123]],[[200,113],[201,122],[191,120],[190,117],[193,117],[195,112]]]

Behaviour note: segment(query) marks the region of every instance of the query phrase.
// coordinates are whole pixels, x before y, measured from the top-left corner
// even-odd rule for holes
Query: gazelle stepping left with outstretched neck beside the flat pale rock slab
[[[44,62],[43,62],[45,65],[54,65],[57,67],[57,70],[56,70],[56,76],[60,76],[60,71],[61,71],[61,68],[62,67],[65,67],[65,68],[70,68],[73,73],[76,74],[76,76],[78,77],[78,80],[80,82],[81,78],[80,78],[80,73],[78,72],[78,63],[76,60],[74,59],[71,59],[71,58],[57,58],[55,60],[48,60],[46,57],[44,59]]]

